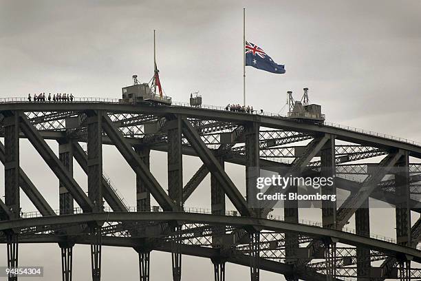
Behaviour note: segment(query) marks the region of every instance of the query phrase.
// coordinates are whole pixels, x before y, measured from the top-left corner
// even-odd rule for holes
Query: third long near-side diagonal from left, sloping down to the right
[[[203,143],[202,139],[200,138],[199,134],[195,131],[193,126],[188,123],[187,120],[183,119],[183,133],[184,136],[187,138],[188,143],[193,146],[199,157],[202,159],[202,162],[208,167],[210,174],[213,174],[222,187],[224,187],[224,191],[228,198],[233,202],[235,208],[240,212],[243,216],[250,216],[251,212],[248,209],[248,205],[244,197],[241,195],[237,187],[235,187],[233,181],[229,178],[226,174],[224,169],[222,169],[221,165],[218,163],[215,156],[213,156],[212,152],[206,147]]]

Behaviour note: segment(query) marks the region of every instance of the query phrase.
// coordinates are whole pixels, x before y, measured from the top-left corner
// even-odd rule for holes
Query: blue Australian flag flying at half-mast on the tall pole
[[[275,63],[258,45],[246,41],[246,65],[272,73],[285,73],[285,65]]]

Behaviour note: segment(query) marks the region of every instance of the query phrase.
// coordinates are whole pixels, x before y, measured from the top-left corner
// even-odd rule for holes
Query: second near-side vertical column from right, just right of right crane
[[[321,149],[321,177],[334,178],[336,174],[335,138],[332,135]],[[335,183],[321,187],[323,195],[336,195]],[[336,228],[336,201],[322,201],[322,222],[325,228]]]

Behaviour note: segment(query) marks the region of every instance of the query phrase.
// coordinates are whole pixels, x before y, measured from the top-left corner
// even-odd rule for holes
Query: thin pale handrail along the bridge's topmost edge
[[[73,99],[73,101],[28,101],[28,98],[24,98],[24,97],[11,97],[11,98],[0,98],[0,103],[35,103],[35,104],[39,104],[39,103],[119,103],[119,99],[118,98],[99,98],[99,97],[75,97]],[[189,103],[184,103],[184,102],[177,102],[177,101],[173,101],[171,103],[171,105],[163,105],[163,106],[178,106],[178,107],[191,107],[191,105]],[[197,108],[197,107],[193,107],[193,108]],[[219,111],[226,111],[226,107],[222,107],[222,106],[218,106],[218,105],[202,105],[201,107],[198,107],[199,109],[204,109],[204,110],[219,110]],[[285,115],[281,115],[281,114],[275,114],[272,112],[258,112],[257,110],[254,110],[253,113],[245,113],[245,112],[232,112],[234,114],[257,114],[257,115],[262,115],[262,116],[269,116],[269,117],[274,117],[274,118],[282,118],[288,121],[291,121],[290,118],[288,118]],[[400,143],[408,143],[410,145],[417,145],[417,146],[421,146],[421,143],[416,142],[416,141],[411,141],[407,138],[400,138],[398,136],[392,136],[389,134],[382,134],[382,133],[378,133],[378,132],[373,132],[367,129],[359,129],[356,127],[351,127],[351,126],[345,126],[345,125],[340,125],[337,123],[332,123],[332,122],[327,122],[324,121],[323,123],[321,123],[321,126],[325,126],[325,127],[334,127],[334,128],[338,128],[338,129],[344,129],[347,130],[349,132],[357,132],[360,134],[366,134],[368,136],[377,136],[380,138],[386,138],[392,141],[398,141]]]

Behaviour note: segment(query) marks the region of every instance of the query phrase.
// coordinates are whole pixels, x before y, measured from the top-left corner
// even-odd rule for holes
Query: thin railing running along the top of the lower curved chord
[[[128,207],[128,209],[129,209],[129,212],[137,212],[136,207]],[[151,206],[150,211],[155,212],[155,213],[156,212],[163,212],[162,208],[159,207],[159,206]],[[202,207],[184,207],[184,211],[186,213],[193,213],[193,214],[212,214],[211,209],[202,208]],[[58,210],[55,210],[55,212],[56,212],[56,214],[59,214]],[[105,207],[104,212],[111,213],[111,212],[113,212],[113,210],[110,207]],[[74,208],[74,214],[83,214],[83,210],[80,209],[80,208]],[[239,216],[239,213],[238,213],[238,211],[226,211],[225,215],[226,216]],[[25,213],[21,214],[21,218],[39,218],[39,217],[42,217],[42,215],[38,211],[30,211],[30,212],[25,212]],[[285,221],[285,218],[283,216],[272,216],[272,215],[269,214],[267,216],[267,218],[269,220]],[[323,228],[322,222],[299,219],[298,223],[300,225],[310,225],[312,227]],[[358,233],[356,233],[356,229],[343,227],[342,231],[358,235]],[[370,233],[369,237],[374,238],[376,240],[382,240],[382,241],[385,241],[385,242],[396,244],[396,239],[390,238],[390,237],[387,237],[387,236],[378,235],[376,233]],[[417,249],[421,249],[421,247],[418,246]]]

